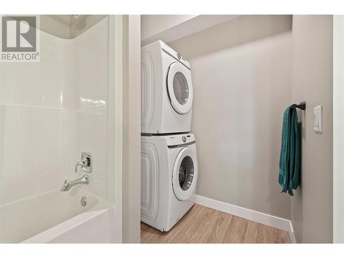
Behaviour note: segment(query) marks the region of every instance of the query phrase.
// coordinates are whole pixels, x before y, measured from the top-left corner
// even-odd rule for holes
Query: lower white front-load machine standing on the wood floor
[[[195,136],[142,136],[141,142],[141,221],[169,231],[194,204]]]

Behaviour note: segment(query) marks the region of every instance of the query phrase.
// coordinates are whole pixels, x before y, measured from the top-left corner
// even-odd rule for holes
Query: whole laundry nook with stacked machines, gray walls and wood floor
[[[332,23],[141,15],[142,243],[333,241]]]

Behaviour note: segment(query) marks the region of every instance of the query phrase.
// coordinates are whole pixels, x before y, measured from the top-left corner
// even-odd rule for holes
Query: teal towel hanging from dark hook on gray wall
[[[279,185],[282,193],[294,196],[293,189],[300,184],[301,127],[297,121],[297,109],[288,107],[283,114],[281,155],[279,158]]]

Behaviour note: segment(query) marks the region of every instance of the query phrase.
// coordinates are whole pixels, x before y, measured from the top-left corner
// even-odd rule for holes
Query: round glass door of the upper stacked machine
[[[186,114],[193,104],[191,71],[181,63],[172,63],[167,75],[167,89],[171,105],[179,114]]]

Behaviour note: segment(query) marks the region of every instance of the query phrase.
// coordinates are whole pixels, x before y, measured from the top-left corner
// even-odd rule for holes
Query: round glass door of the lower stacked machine
[[[173,166],[172,186],[178,200],[189,200],[195,191],[197,182],[196,153],[189,147],[184,147],[178,153]]]

